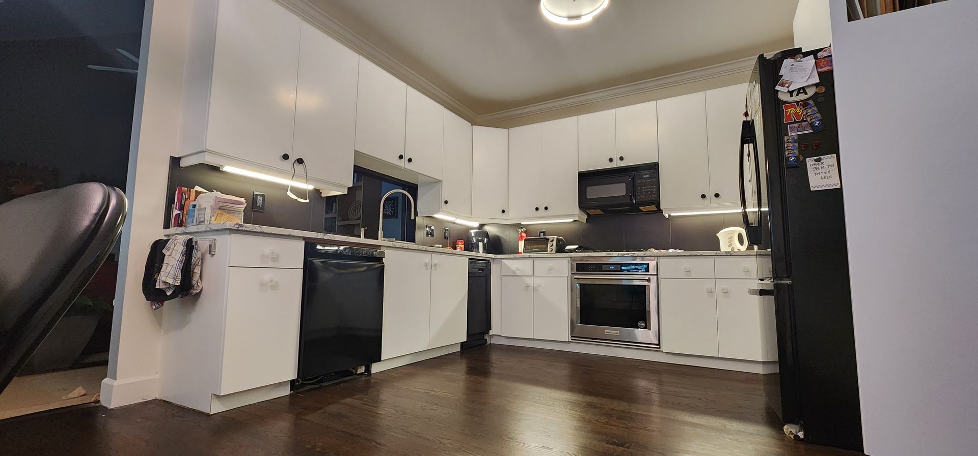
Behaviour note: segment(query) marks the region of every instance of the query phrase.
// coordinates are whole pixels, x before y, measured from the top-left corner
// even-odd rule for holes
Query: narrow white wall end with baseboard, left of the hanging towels
[[[122,228],[109,377],[102,382],[101,400],[109,407],[157,395],[160,315],[150,310],[141,281],[150,244],[162,237],[169,156],[179,137],[190,3],[146,2],[126,182],[129,214]]]

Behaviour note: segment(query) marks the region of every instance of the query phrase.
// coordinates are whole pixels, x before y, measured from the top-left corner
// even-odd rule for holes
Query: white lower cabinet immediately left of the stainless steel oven
[[[525,339],[570,340],[567,260],[502,263],[499,333]],[[534,271],[537,275],[531,276]]]

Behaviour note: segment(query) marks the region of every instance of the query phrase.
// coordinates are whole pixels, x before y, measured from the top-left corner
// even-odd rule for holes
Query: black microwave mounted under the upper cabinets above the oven
[[[662,212],[658,163],[588,171],[578,179],[578,205],[589,216]]]

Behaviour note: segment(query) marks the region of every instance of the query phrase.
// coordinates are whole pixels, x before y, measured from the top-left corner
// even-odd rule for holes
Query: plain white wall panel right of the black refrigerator
[[[866,452],[978,454],[978,2],[831,0]]]

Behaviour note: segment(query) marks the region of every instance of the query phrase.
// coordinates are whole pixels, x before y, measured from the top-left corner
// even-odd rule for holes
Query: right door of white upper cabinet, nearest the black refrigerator
[[[710,202],[739,207],[737,145],[747,84],[706,91],[706,141],[710,161]]]

